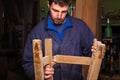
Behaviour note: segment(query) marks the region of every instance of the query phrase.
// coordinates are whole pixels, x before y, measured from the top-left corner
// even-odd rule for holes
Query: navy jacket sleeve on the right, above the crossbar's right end
[[[95,38],[95,35],[93,32],[90,30],[90,28],[87,25],[84,25],[84,28],[82,28],[82,49],[83,49],[83,55],[84,56],[91,56],[91,48],[93,45],[93,40]]]

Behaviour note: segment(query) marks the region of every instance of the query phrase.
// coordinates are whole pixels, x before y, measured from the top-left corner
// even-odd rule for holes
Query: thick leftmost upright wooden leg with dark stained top
[[[33,40],[33,60],[35,80],[44,80],[43,63],[42,63],[42,47],[41,41]]]

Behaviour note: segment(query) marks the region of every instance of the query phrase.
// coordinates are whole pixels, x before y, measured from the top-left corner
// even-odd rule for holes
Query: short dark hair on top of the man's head
[[[71,5],[71,0],[48,0],[48,1],[49,5],[51,5],[53,2],[59,4],[60,6]]]

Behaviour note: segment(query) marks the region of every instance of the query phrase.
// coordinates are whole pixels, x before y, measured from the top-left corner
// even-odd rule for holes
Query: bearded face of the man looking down
[[[67,15],[69,5],[60,6],[59,4],[55,4],[54,2],[50,6],[48,4],[51,19],[55,24],[62,24],[65,21],[65,17]]]

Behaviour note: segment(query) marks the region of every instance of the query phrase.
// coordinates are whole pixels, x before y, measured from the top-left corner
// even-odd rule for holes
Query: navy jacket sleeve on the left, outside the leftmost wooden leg
[[[34,80],[34,63],[32,54],[32,38],[28,35],[23,54],[23,68],[30,80]]]

